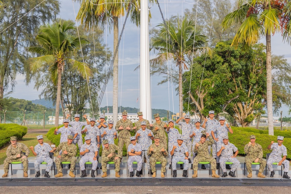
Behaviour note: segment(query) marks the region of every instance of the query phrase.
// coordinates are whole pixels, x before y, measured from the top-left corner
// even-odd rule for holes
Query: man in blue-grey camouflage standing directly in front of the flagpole
[[[137,130],[137,132],[135,133],[135,139],[138,141],[138,144],[141,145],[142,147],[142,154],[141,154],[141,158],[142,160],[144,160],[144,158],[146,158],[147,160],[147,169],[149,170],[149,155],[147,155],[147,150],[149,149],[149,146],[151,145],[152,140],[154,140],[154,134],[151,130],[149,130],[147,127],[147,122],[146,121],[142,121],[141,123],[141,129]],[[142,173],[142,170],[140,170],[140,172]],[[148,172],[148,174],[152,172]]]

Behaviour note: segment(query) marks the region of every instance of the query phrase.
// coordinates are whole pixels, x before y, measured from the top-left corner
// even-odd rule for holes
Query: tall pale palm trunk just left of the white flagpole
[[[113,49],[115,49],[118,44],[118,17],[113,17]],[[113,62],[113,103],[112,103],[112,112],[113,112],[113,122],[114,127],[118,119],[118,50],[116,57]]]

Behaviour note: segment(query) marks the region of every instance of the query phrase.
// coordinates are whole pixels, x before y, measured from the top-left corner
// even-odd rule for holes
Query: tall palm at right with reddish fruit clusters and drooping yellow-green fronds
[[[245,4],[243,4],[246,2]],[[281,0],[247,0],[239,1],[239,8],[225,16],[222,22],[224,30],[231,27],[233,22],[241,23],[232,45],[243,43],[251,46],[266,36],[266,69],[267,69],[267,112],[269,135],[274,135],[273,100],[271,74],[271,34],[280,32],[282,18]]]

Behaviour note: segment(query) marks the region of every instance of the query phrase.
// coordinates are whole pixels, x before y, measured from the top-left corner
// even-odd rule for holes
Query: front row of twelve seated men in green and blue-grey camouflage
[[[144,123],[142,123],[143,125]],[[145,124],[144,124],[145,125]],[[166,159],[165,156],[167,156],[167,149],[165,149],[165,146],[160,143],[160,137],[155,136],[152,137],[148,134],[148,136],[151,138],[154,138],[154,144],[151,144],[147,152],[144,153],[147,156],[149,156],[149,163],[152,170],[152,177],[156,177],[156,162],[160,162],[162,164],[161,168],[161,177],[165,177],[164,172],[166,168]],[[133,162],[137,162],[137,172],[136,176],[140,177],[140,174],[142,173],[142,147],[139,143],[136,143],[135,136],[130,137],[131,144],[128,146],[128,168],[130,172],[130,177],[133,177],[133,168],[132,164]],[[207,140],[208,138],[208,140]],[[40,170],[39,165],[42,162],[47,163],[47,169],[45,172],[44,177],[49,178],[49,172],[53,165],[53,160],[49,156],[49,152],[56,151],[56,159],[55,163],[57,166],[58,174],[55,175],[55,177],[62,177],[62,168],[61,163],[62,162],[70,162],[70,177],[75,177],[73,174],[73,170],[75,168],[76,163],[76,153],[77,153],[77,147],[72,143],[73,142],[73,136],[68,135],[67,136],[67,142],[62,142],[59,144],[57,148],[52,149],[49,144],[43,142],[42,135],[37,136],[38,144],[34,147],[30,147],[33,155],[36,156],[36,160],[34,162],[34,167],[36,170],[36,177],[40,176]],[[29,155],[30,151],[27,146],[25,146],[23,143],[17,142],[16,137],[10,137],[11,145],[7,148],[6,155],[7,158],[4,160],[4,174],[2,177],[8,176],[8,166],[9,163],[20,161],[23,163],[24,167],[24,177],[28,177],[27,171],[28,171],[28,160],[27,156]],[[272,149],[272,152],[268,158],[267,165],[269,170],[271,171],[271,177],[274,176],[274,170],[272,168],[272,164],[274,162],[278,162],[278,165],[284,165],[284,175],[283,178],[289,179],[287,173],[289,171],[289,161],[286,160],[287,156],[287,150],[286,147],[282,144],[283,143],[283,137],[278,136],[277,142],[274,143],[273,141],[268,146],[268,149]],[[198,163],[199,162],[210,162],[211,163],[211,170],[212,170],[212,177],[219,178],[219,176],[216,174],[216,160],[209,155],[208,146],[213,144],[214,140],[211,136],[209,136],[209,133],[206,133],[205,135],[202,134],[200,137],[200,141],[195,144],[195,148],[193,149],[193,152],[196,153],[196,157],[193,160],[193,170],[194,174],[192,178],[197,177],[197,169],[198,169]],[[107,162],[114,162],[115,164],[115,176],[120,177],[119,170],[120,170],[120,159],[122,158],[122,149],[115,144],[109,144],[108,140],[103,141],[104,149],[102,151],[102,171],[103,175],[101,177],[107,176]],[[231,177],[235,177],[234,171],[237,169],[239,165],[239,161],[236,159],[236,156],[238,154],[237,148],[231,144],[228,141],[228,137],[223,137],[223,144],[221,144],[218,147],[219,151],[217,152],[217,156],[220,156],[220,166],[223,170],[223,174],[221,177],[226,177],[226,168],[225,168],[225,162],[232,162],[233,165],[231,167],[231,170],[229,172],[229,175]],[[116,153],[117,151],[117,153]],[[250,142],[245,145],[244,151],[246,153],[246,167],[248,170],[248,178],[252,177],[252,170],[251,170],[251,163],[256,162],[260,163],[260,169],[258,177],[264,178],[265,176],[262,174],[266,161],[262,159],[262,147],[255,143],[255,135],[250,136]],[[24,154],[24,153],[25,154]],[[233,155],[233,152],[235,154]],[[59,154],[61,153],[61,154]],[[172,150],[170,151],[170,154],[172,156],[172,170],[173,170],[173,177],[177,177],[177,170],[176,165],[177,162],[181,161],[184,163],[184,169],[183,169],[183,177],[187,176],[187,170],[188,170],[188,157],[189,152],[185,144],[183,144],[183,138],[181,136],[178,136],[177,143],[175,143],[172,147]],[[82,155],[80,159],[80,170],[81,170],[81,177],[86,177],[86,170],[85,170],[85,163],[91,162],[92,163],[92,171],[91,171],[91,177],[95,177],[95,170],[97,168],[98,160],[98,148],[95,144],[92,144],[91,137],[86,136],[85,137],[85,144],[83,144],[80,148],[80,155]],[[283,155],[283,158],[281,157]],[[150,173],[150,171],[149,171]]]

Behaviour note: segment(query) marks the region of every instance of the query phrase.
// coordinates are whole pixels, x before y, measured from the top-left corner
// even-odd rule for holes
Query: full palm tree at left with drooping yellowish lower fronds
[[[36,73],[41,68],[47,67],[52,82],[57,85],[55,126],[59,125],[61,73],[64,66],[71,64],[84,78],[92,75],[91,69],[87,65],[69,58],[80,48],[80,42],[88,42],[83,37],[79,39],[79,37],[71,35],[69,30],[74,28],[74,24],[69,21],[64,21],[63,24],[56,22],[41,26],[36,36],[39,46],[28,48],[29,52],[40,56],[29,59],[32,72]]]

